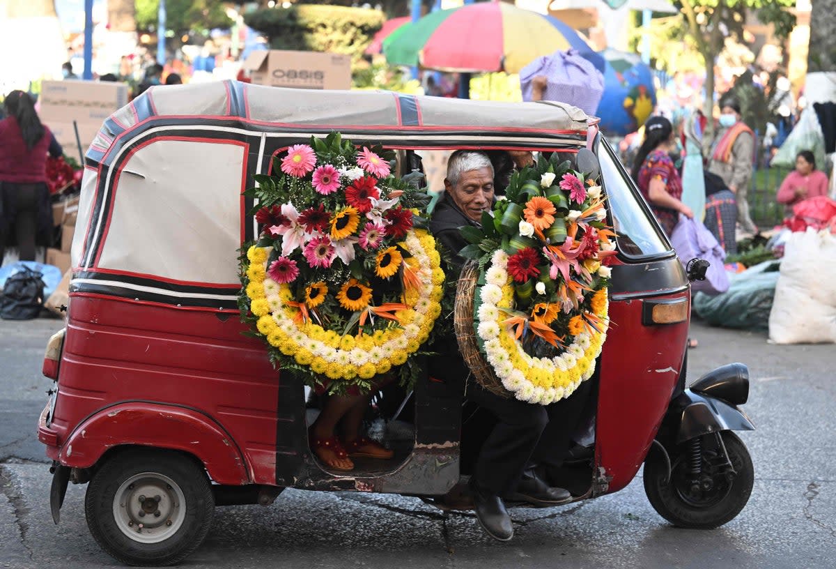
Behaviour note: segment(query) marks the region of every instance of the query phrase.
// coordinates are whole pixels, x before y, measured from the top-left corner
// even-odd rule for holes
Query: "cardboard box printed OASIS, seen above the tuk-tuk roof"
[[[252,83],[293,89],[351,89],[351,57],[315,51],[254,51],[242,69]]]

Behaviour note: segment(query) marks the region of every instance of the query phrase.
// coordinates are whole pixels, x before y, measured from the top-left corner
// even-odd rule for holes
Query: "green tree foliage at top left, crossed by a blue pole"
[[[136,0],[136,27],[155,30],[160,0]],[[223,3],[212,0],[166,0],[166,28],[175,33],[230,28]]]

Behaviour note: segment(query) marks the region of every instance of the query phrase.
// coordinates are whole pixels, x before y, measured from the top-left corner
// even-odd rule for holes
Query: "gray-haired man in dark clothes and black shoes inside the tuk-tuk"
[[[482,213],[493,206],[493,168],[487,155],[479,151],[456,151],[447,163],[445,192],[432,213],[430,230],[456,255],[458,267],[465,259],[458,256],[467,242],[461,237],[463,225],[479,226]],[[433,346],[438,356],[431,358],[431,377],[443,382],[464,382],[470,370],[456,349],[456,338],[446,338]],[[466,397],[487,409],[497,423],[482,443],[471,476],[471,494],[477,518],[488,535],[500,541],[513,536],[511,516],[504,500],[528,502],[541,507],[571,500],[566,490],[551,488],[533,469],[528,468],[541,433],[549,423],[549,413],[539,405],[515,398],[499,397],[469,381]],[[547,443],[548,441],[543,441]],[[503,500],[504,499],[504,500]]]

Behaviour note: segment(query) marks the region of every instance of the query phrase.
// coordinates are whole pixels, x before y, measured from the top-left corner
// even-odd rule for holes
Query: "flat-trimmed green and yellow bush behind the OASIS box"
[[[270,38],[273,49],[347,54],[355,63],[384,21],[380,10],[325,4],[265,8],[244,16],[248,26]]]

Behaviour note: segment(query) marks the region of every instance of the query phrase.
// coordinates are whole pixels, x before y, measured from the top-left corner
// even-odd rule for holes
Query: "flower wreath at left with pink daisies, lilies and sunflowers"
[[[245,192],[263,233],[242,249],[242,319],[314,387],[369,388],[395,367],[414,379],[404,364],[441,314],[445,274],[420,215],[429,197],[384,156],[333,133],[291,146],[281,173]]]

